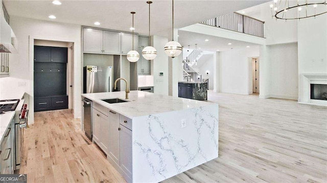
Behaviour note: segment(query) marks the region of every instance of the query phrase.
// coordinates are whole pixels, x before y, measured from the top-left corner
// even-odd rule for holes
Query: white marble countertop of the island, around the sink
[[[129,102],[111,104],[102,101],[101,99],[120,98],[126,100],[125,91],[84,93],[82,96],[131,119],[138,116],[199,108],[214,104],[217,105],[217,103],[212,102],[172,97],[168,95],[159,95],[143,91],[130,91],[129,99],[127,99]]]

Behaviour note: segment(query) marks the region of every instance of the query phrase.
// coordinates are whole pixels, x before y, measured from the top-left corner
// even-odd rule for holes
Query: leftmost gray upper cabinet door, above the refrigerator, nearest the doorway
[[[84,28],[84,52],[102,53],[103,31]]]

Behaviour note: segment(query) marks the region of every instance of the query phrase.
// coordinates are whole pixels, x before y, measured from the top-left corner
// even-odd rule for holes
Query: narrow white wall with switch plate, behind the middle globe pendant
[[[169,93],[169,70],[168,70],[168,57],[164,51],[168,38],[161,36],[153,36],[153,47],[157,49],[157,57],[151,61],[153,65],[153,84],[155,86],[154,93],[168,95]],[[159,72],[164,72],[164,76],[159,76]]]

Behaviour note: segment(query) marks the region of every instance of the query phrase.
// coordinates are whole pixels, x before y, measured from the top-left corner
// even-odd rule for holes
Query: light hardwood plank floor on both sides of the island
[[[219,158],[163,182],[327,182],[327,108],[208,92]],[[124,182],[70,110],[35,113],[19,173],[28,182]]]

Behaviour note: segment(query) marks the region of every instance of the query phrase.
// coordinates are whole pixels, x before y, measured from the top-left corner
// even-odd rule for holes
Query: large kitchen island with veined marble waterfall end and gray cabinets
[[[159,182],[218,157],[217,103],[142,91],[82,96],[92,100],[93,141],[128,182]]]

